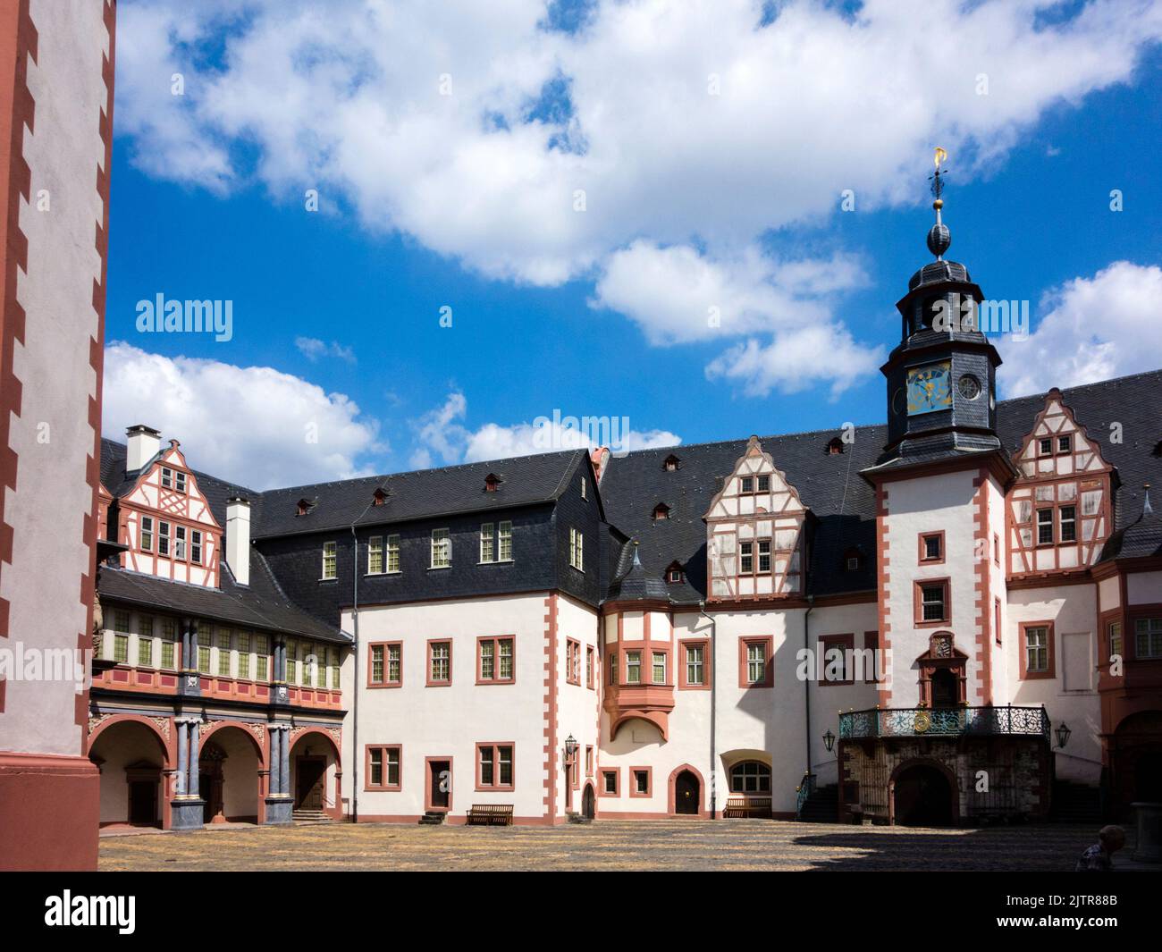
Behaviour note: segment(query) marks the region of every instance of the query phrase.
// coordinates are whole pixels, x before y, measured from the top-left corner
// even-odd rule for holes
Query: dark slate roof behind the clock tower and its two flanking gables
[[[1100,444],[1106,461],[1117,467],[1114,538],[1103,558],[1152,554],[1162,543],[1156,536],[1157,516],[1141,521],[1142,485],[1152,484],[1155,498],[1162,487],[1162,456],[1154,449],[1162,441],[1162,371],[1149,371],[1062,391],[1077,422]],[[1020,448],[1045,406],[1045,394],[1003,400],[997,406],[997,435],[1010,453]],[[1121,442],[1110,439],[1111,423],[1121,424]],[[834,430],[760,437],[803,503],[817,520],[815,549],[809,568],[809,590],[816,595],[867,592],[875,588],[875,493],[860,471],[875,464],[887,441],[882,424],[858,427],[855,439],[840,454],[829,456],[826,445]],[[601,494],[609,521],[640,542],[639,557],[646,572],[664,578],[680,563],[681,584],[668,585],[672,601],[697,602],[706,590],[706,534],[703,515],[746,450],[746,439],[637,450],[615,454],[602,477]],[[664,461],[670,453],[680,460],[669,472]],[[1119,479],[1120,478],[1120,479]],[[659,502],[669,507],[669,518],[654,521]],[[1152,528],[1154,527],[1154,528]],[[1111,544],[1114,539],[1111,539]],[[1152,545],[1154,546],[1152,549]],[[848,572],[848,549],[861,553],[860,568]]]

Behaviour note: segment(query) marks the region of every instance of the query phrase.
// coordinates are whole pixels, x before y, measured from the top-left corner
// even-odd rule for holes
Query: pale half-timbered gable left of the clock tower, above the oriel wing
[[[805,518],[798,492],[752,436],[705,515],[711,601],[799,594]]]

